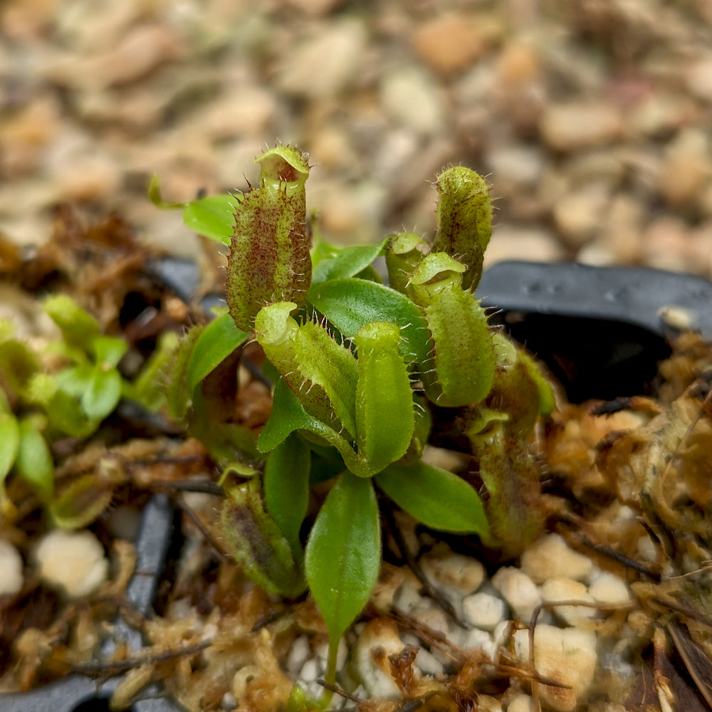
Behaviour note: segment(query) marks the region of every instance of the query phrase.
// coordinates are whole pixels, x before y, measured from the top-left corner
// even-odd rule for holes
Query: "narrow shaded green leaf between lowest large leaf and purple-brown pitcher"
[[[310,463],[309,446],[293,433],[271,451],[265,464],[267,511],[279,525],[297,561],[302,557],[299,530],[309,503]]]

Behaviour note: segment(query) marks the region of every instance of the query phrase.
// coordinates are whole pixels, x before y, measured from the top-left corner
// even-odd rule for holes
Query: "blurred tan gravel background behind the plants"
[[[3,0],[0,234],[53,206],[199,242],[165,199],[310,153],[338,243],[431,235],[437,172],[488,177],[506,258],[712,276],[711,0]]]

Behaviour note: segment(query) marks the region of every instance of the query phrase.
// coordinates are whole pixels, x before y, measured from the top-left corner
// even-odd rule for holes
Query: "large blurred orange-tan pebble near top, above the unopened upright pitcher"
[[[412,42],[418,56],[441,74],[466,70],[484,51],[476,20],[457,14],[443,14],[424,22]]]

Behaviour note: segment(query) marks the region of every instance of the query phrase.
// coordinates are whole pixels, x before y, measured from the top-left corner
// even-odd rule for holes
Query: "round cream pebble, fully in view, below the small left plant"
[[[34,558],[41,579],[70,598],[88,596],[108,579],[104,548],[88,530],[49,532],[38,543]]]

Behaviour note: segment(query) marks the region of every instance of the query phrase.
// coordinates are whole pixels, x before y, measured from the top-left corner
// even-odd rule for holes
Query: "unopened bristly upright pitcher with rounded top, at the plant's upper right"
[[[467,266],[464,289],[475,290],[482,276],[485,248],[492,235],[492,201],[484,179],[464,166],[442,172],[432,253],[446,252]]]

